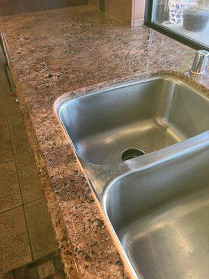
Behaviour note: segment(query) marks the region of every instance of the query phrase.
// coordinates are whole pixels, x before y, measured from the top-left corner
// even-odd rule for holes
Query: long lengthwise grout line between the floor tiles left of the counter
[[[2,71],[2,67],[0,68],[0,70]],[[24,203],[23,203],[23,199],[22,199],[22,190],[21,190],[21,187],[20,187],[20,178],[19,178],[19,174],[18,174],[18,171],[17,171],[17,163],[16,163],[16,160],[15,160],[15,153],[14,153],[14,146],[13,146],[13,141],[12,141],[12,137],[11,137],[10,123],[8,121],[8,112],[6,110],[6,100],[5,100],[6,97],[4,96],[3,92],[2,92],[2,95],[3,95],[4,110],[6,111],[6,122],[7,122],[7,125],[8,125],[8,131],[9,131],[9,135],[10,135],[10,144],[12,146],[12,153],[13,153],[13,160],[14,160],[14,164],[15,164],[17,182],[18,182],[18,186],[19,186],[19,190],[20,190],[20,198],[21,198],[21,202],[22,202],[22,210],[23,210],[23,213],[24,213],[24,222],[25,222],[25,225],[26,225],[26,233],[27,233],[27,236],[28,236],[29,248],[30,248],[30,251],[31,251],[31,259],[32,259],[32,262],[33,262],[34,261],[34,255],[33,255],[33,250],[32,250],[31,237],[30,237],[30,234],[29,234],[29,225],[28,225],[27,220],[26,220],[26,211],[25,211]]]

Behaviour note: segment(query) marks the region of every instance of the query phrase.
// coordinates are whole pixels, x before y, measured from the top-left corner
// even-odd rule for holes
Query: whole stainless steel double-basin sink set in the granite
[[[57,114],[131,276],[208,279],[209,99],[162,76]]]

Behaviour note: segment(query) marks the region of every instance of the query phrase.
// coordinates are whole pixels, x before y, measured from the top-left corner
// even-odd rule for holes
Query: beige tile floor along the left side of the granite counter
[[[56,250],[22,113],[0,66],[0,279]]]

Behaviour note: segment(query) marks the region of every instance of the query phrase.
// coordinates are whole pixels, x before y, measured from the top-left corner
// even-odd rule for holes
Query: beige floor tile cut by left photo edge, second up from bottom
[[[21,204],[14,161],[0,164],[0,212]]]

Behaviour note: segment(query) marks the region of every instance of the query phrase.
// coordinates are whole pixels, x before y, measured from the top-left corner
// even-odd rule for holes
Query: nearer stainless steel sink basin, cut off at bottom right
[[[208,279],[209,142],[116,179],[104,211],[137,276]]]

